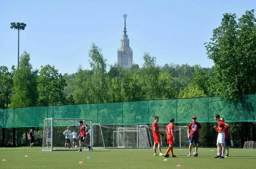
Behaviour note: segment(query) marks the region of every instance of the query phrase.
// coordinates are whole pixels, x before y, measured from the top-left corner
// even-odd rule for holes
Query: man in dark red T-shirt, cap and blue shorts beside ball
[[[192,144],[195,144],[195,152],[197,152],[198,148],[198,140],[201,139],[202,131],[200,123],[196,122],[196,117],[192,117],[192,122],[189,124],[188,127],[188,139],[189,139],[189,155],[191,156]]]

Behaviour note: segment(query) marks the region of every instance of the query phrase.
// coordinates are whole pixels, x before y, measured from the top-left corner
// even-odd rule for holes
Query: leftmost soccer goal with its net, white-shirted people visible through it
[[[71,133],[75,132],[77,134],[76,137],[80,134],[80,120],[82,120],[83,125],[86,126],[86,133],[90,130],[90,133],[86,135],[87,139],[85,138],[85,142],[92,147],[93,137],[90,137],[93,135],[92,119],[49,118],[44,121],[42,150],[54,151],[79,149],[79,139],[73,139]],[[67,128],[69,128],[69,131],[65,132]],[[72,147],[73,141],[78,148]],[[84,147],[83,150],[85,149],[86,148]]]

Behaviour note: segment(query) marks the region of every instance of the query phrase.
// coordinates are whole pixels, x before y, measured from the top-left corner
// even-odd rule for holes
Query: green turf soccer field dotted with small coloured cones
[[[256,168],[256,149],[231,148],[230,156],[224,159],[213,158],[216,148],[198,148],[197,157],[188,157],[188,149],[175,148],[177,158],[153,156],[152,148],[94,149],[82,152],[46,152],[41,149],[0,148],[0,168]],[[162,150],[165,152],[166,148]],[[176,167],[178,164],[182,167]]]

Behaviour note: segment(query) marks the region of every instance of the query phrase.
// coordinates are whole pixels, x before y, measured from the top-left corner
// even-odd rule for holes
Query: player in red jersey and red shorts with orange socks
[[[166,126],[166,134],[167,134],[167,143],[169,144],[169,147],[167,148],[167,151],[165,153],[165,157],[168,157],[168,153],[171,150],[172,157],[176,157],[176,155],[173,154],[173,144],[174,144],[174,119],[170,119],[170,124]]]

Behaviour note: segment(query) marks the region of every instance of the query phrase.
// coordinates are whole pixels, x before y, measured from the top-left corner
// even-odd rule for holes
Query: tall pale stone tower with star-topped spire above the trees
[[[117,63],[124,69],[130,69],[132,66],[132,49],[129,46],[128,35],[126,34],[126,17],[124,14],[124,34],[121,39],[121,47],[117,49]]]

